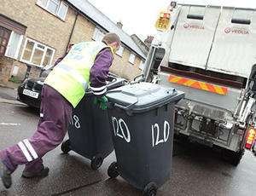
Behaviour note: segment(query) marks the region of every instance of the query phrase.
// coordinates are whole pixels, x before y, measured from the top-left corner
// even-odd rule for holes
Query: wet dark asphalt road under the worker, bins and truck
[[[0,149],[14,145],[36,130],[38,111],[15,101],[16,91],[0,87]],[[23,165],[13,174],[13,186],[0,195],[90,195],[128,196],[142,192],[121,177],[109,179],[107,170],[115,160],[112,153],[99,170],[90,170],[90,161],[79,154],[61,153],[60,147],[44,156],[49,167],[45,178],[24,179]],[[218,150],[174,141],[171,179],[158,190],[159,196],[251,196],[256,195],[256,159],[246,151],[241,164],[232,166]]]

